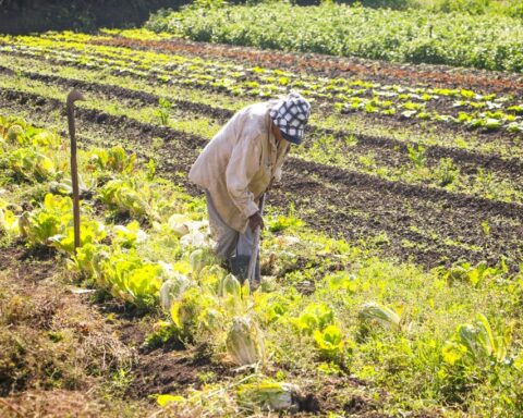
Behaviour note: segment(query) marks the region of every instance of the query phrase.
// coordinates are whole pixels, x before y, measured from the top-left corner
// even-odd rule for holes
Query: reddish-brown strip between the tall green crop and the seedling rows
[[[459,69],[447,65],[396,64],[377,60],[340,58],[317,53],[290,53],[282,51],[264,51],[248,47],[195,42],[181,38],[170,40],[141,40],[114,37],[112,39],[94,39],[95,45],[125,47],[138,50],[155,50],[171,53],[190,53],[209,59],[223,58],[228,62],[240,64],[248,62],[264,67],[294,70],[318,76],[361,76],[379,83],[397,84],[409,79],[426,85],[450,88],[477,88],[481,91],[513,94],[523,87],[521,74],[489,72],[484,70]]]

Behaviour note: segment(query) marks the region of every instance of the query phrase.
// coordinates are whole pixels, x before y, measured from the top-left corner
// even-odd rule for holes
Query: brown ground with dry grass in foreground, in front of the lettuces
[[[205,376],[208,383],[227,384],[236,374],[205,346],[144,349],[153,318],[72,292],[52,250],[13,245],[0,250],[0,311],[8,324],[0,333],[1,417],[166,416],[156,404],[158,394],[199,389]],[[331,377],[304,389],[295,416],[343,409],[387,418],[366,390],[362,380]]]

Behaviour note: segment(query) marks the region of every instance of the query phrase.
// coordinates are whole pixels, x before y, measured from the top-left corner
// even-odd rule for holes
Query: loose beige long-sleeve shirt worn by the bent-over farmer
[[[289,143],[279,145],[270,128],[273,101],[239,111],[216,134],[193,164],[188,179],[206,188],[222,220],[244,232],[248,217],[258,210],[257,199],[270,180],[280,180]]]

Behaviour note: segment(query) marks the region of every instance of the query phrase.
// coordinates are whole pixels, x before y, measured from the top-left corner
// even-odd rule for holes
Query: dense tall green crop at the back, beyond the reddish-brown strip
[[[198,41],[318,52],[392,62],[523,70],[520,19],[429,9],[369,9],[287,2],[202,7],[158,13],[147,23]]]

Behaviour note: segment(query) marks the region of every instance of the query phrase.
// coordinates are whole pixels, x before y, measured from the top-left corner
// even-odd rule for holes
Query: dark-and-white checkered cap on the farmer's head
[[[281,131],[283,137],[293,144],[300,144],[311,114],[311,104],[302,95],[291,91],[269,110],[270,118]]]

